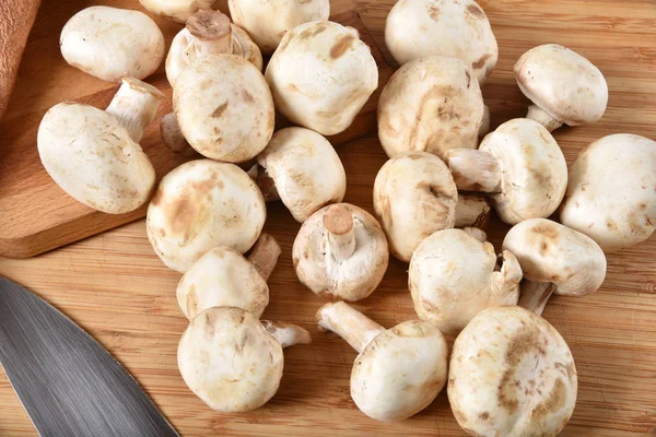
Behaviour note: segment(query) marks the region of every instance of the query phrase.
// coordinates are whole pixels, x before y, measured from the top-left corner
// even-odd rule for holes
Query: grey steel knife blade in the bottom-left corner
[[[0,364],[40,436],[178,436],[98,342],[1,276]]]

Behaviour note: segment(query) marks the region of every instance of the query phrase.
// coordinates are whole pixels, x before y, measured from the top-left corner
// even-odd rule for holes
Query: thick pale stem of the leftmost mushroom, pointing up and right
[[[126,128],[130,138],[139,143],[145,128],[157,115],[164,93],[134,78],[122,78],[118,92],[105,109],[120,126]]]

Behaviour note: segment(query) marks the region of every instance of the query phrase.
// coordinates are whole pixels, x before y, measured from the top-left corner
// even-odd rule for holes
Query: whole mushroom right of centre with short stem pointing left
[[[548,217],[567,187],[563,152],[542,125],[516,118],[488,134],[479,150],[452,150],[446,162],[460,190],[490,193],[505,223]]]

